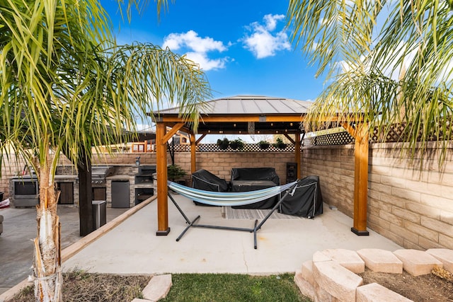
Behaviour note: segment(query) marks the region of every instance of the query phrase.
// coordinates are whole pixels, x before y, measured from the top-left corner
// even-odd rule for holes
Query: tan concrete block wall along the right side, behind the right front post
[[[438,150],[409,161],[396,144],[369,149],[367,226],[404,248],[453,248],[453,162],[447,150],[438,165]],[[319,175],[324,201],[353,215],[354,146],[305,147],[302,175]]]

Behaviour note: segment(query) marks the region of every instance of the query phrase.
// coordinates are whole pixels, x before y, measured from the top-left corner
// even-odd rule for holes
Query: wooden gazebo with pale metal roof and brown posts
[[[190,138],[190,170],[196,170],[196,146],[208,134],[283,134],[294,144],[294,162],[297,178],[301,178],[301,141],[304,137],[304,117],[311,102],[287,98],[256,95],[237,95],[205,103],[200,110],[197,133],[191,129],[193,120],[184,119],[180,108],[153,112],[156,122],[156,172],[157,172],[157,236],[166,236],[168,226],[168,187],[166,142],[176,132],[183,130]],[[326,121],[337,122],[337,121]],[[368,186],[368,132],[365,127],[343,124],[355,138],[354,225],[351,231],[367,236],[367,186]],[[363,130],[361,130],[363,129]],[[292,134],[290,136],[289,134]]]

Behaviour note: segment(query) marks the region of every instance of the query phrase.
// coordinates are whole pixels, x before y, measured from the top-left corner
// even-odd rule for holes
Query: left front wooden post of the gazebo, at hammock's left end
[[[156,173],[157,173],[157,232],[156,236],[167,236],[168,227],[168,187],[167,187],[167,145],[164,141],[166,124],[156,123]]]

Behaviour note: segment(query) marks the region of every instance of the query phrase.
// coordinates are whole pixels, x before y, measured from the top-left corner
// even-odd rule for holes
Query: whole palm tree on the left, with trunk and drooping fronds
[[[210,88],[185,57],[109,42],[109,18],[96,0],[6,0],[0,10],[0,149],[37,171],[35,297],[60,301],[54,178],[62,151],[75,166],[87,165],[92,146],[121,142],[123,129],[136,129],[137,113],[168,100],[194,117]]]

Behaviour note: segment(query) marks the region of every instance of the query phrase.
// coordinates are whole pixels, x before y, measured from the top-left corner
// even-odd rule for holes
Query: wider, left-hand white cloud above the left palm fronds
[[[204,71],[222,69],[229,61],[228,57],[210,59],[208,52],[224,52],[227,50],[226,46],[212,37],[200,37],[193,30],[189,30],[187,33],[171,33],[164,38],[162,47],[168,47],[173,52],[185,50],[188,59],[199,64]]]

